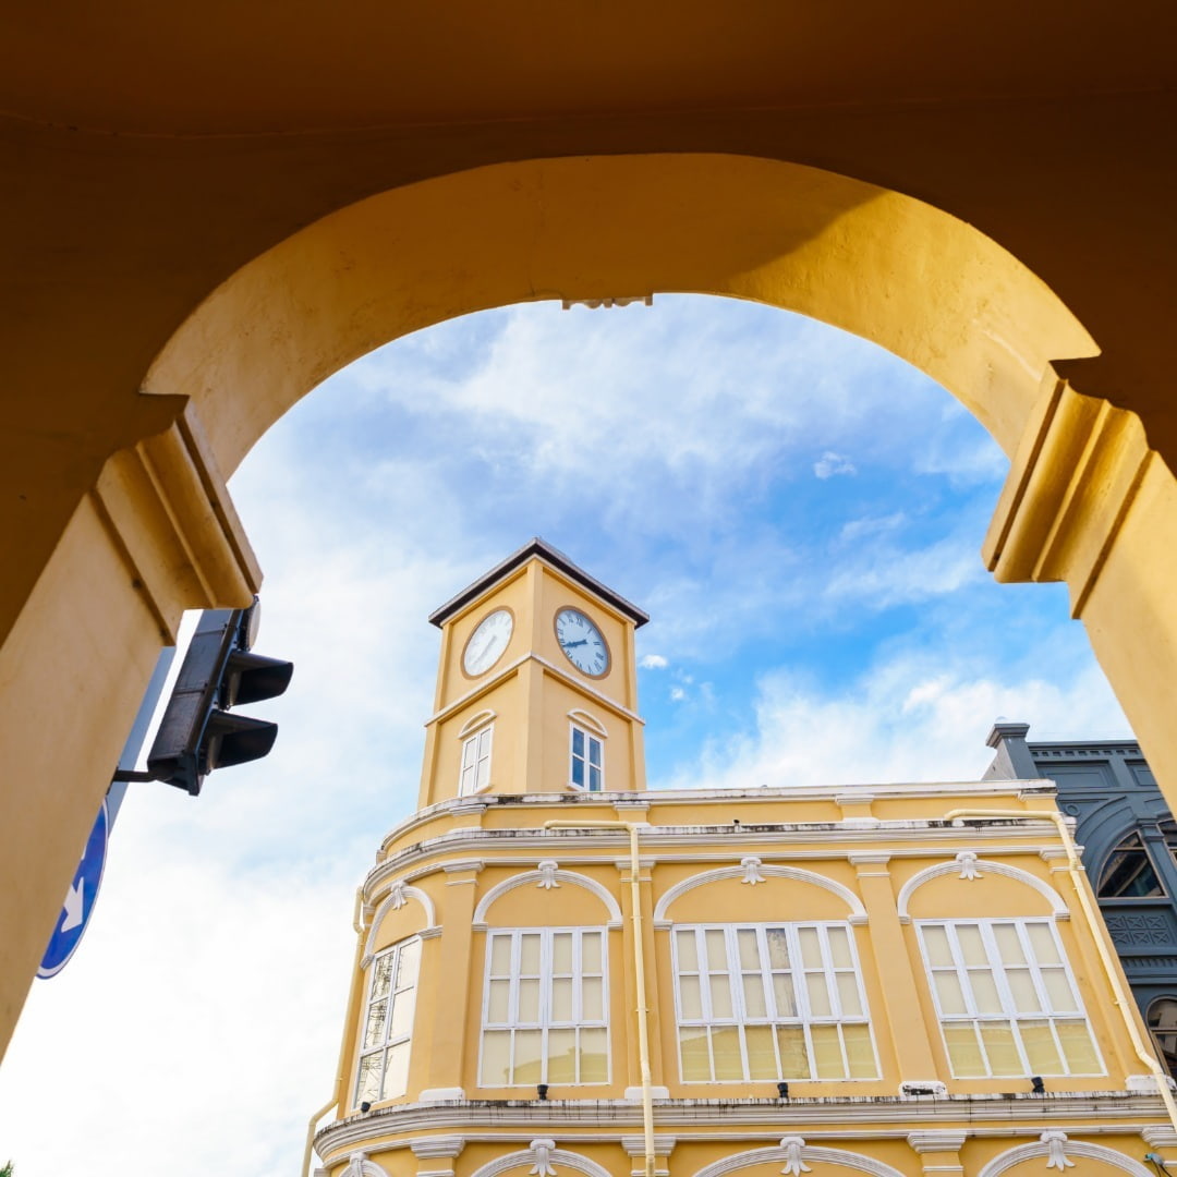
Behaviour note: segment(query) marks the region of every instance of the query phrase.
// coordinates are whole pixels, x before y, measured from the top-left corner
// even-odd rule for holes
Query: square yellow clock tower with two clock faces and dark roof
[[[625,598],[533,539],[430,620],[441,630],[419,807],[645,789]]]

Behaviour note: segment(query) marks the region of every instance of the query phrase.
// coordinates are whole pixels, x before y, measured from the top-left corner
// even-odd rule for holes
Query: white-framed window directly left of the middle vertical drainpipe
[[[487,932],[479,1084],[609,1082],[605,932]]]

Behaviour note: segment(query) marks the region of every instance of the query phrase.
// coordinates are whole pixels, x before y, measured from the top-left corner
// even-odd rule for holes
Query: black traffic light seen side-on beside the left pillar
[[[185,654],[162,723],[147,756],[147,776],[193,797],[213,769],[260,760],[278,724],[232,714],[239,703],[281,694],[294,664],[250,652],[258,600],[248,609],[205,610]]]

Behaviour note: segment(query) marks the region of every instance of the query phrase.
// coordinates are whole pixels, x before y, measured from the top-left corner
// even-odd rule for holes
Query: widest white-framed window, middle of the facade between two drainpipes
[[[674,976],[685,1083],[878,1078],[849,924],[676,927]]]

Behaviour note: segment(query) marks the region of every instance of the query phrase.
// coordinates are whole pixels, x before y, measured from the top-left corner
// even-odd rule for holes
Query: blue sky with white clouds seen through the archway
[[[251,709],[278,744],[197,800],[128,797],[93,925],[0,1071],[0,1163],[297,1171],[352,893],[415,804],[426,616],[532,536],[651,614],[653,786],[976,778],[999,714],[1126,734],[1065,588],[982,566],[1005,470],[919,373],[746,302],[492,311],[333,377],[232,484],[257,649],[297,667]]]

